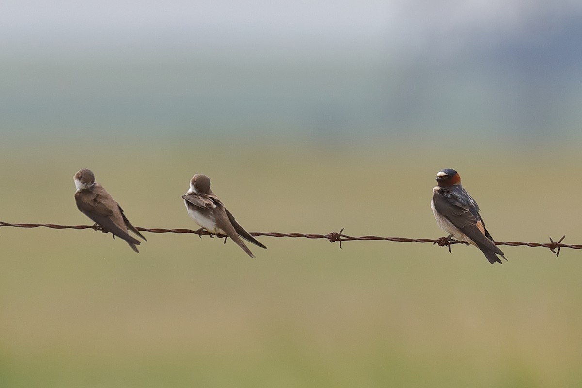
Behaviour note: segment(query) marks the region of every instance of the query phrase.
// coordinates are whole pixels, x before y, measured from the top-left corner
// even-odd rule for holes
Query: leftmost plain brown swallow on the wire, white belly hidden
[[[101,226],[104,233],[111,232],[115,236],[125,240],[127,244],[137,253],[136,245],[140,245],[140,240],[135,239],[127,233],[131,230],[137,236],[145,241],[144,236],[129,222],[123,209],[113,200],[111,195],[105,191],[105,188],[95,183],[93,171],[83,168],[73,175],[74,185],[77,191],[74,193],[74,199],[77,202],[79,211],[95,222],[95,225]]]

